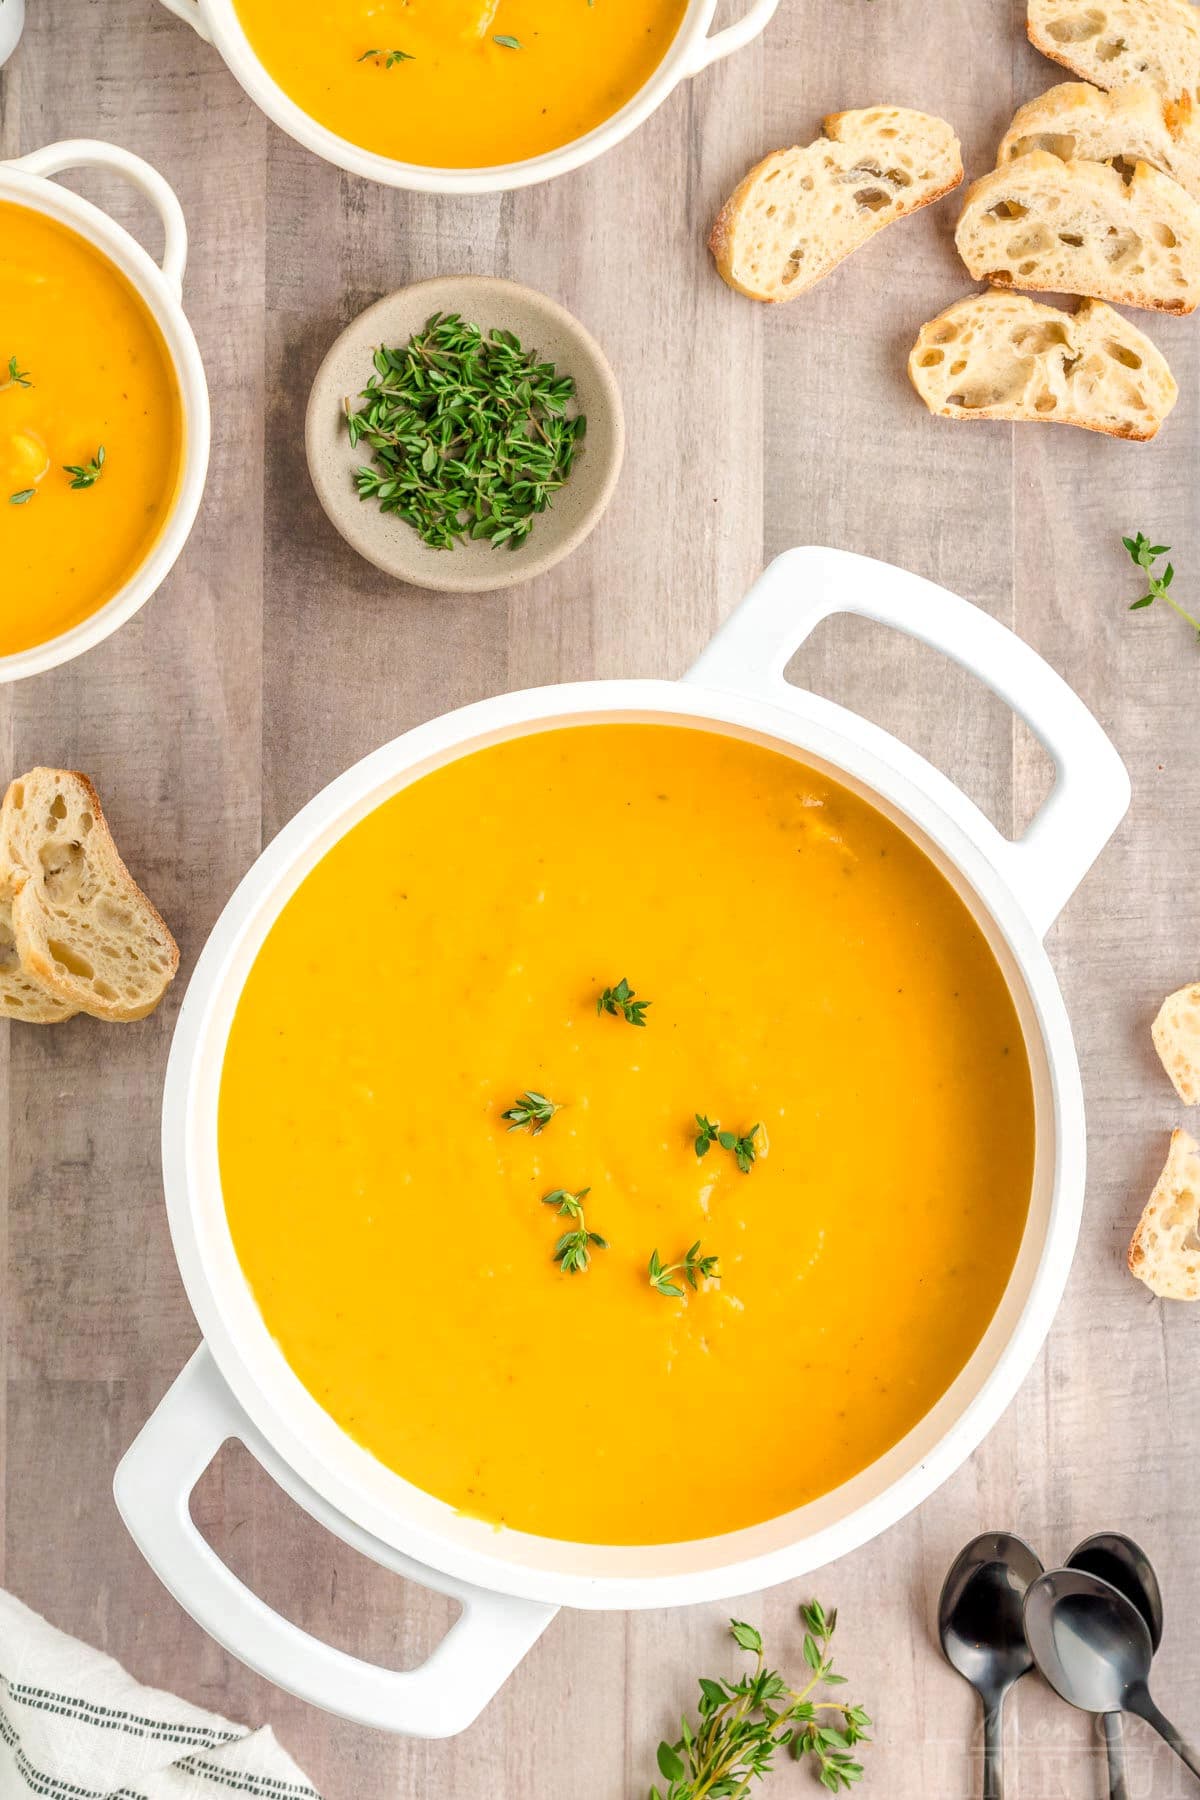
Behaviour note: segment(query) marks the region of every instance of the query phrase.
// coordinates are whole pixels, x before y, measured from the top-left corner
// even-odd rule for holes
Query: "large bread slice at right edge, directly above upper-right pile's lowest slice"
[[[1164,313],[1200,304],[1200,203],[1148,162],[1124,182],[1105,162],[1033,149],[972,184],[954,241],[995,286]]]

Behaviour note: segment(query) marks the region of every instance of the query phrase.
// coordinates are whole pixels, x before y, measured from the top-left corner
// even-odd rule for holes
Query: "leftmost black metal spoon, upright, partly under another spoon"
[[[984,1800],[1004,1800],[1004,1696],[1033,1669],[1022,1602],[1042,1562],[1022,1537],[984,1532],[959,1552],[937,1602],[946,1661],[984,1706]]]

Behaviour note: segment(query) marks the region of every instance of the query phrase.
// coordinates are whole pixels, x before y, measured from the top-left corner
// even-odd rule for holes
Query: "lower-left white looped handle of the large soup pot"
[[[189,1499],[228,1438],[245,1444],[344,1543],[461,1602],[462,1615],[428,1661],[398,1672],[336,1651],[273,1613],[221,1562],[196,1530]],[[113,1494],[149,1566],[209,1636],[290,1694],[381,1732],[452,1737],[466,1730],[556,1613],[434,1573],[336,1514],[255,1431],[205,1345],[126,1451]]]

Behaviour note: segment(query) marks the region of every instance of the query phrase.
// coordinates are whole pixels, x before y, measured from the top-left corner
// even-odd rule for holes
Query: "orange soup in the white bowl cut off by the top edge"
[[[237,0],[309,117],[426,167],[524,162],[603,124],[662,61],[685,0]]]

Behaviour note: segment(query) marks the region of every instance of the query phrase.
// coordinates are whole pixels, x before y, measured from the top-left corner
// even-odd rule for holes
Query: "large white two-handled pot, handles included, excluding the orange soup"
[[[934,644],[1029,722],[1054,760],[1056,783],[1018,842],[1000,837],[896,738],[784,680],[792,653],[835,612]],[[345,1436],[259,1316],[230,1240],[218,1166],[218,1089],[234,1008],[259,945],[320,857],[430,769],[502,738],[597,720],[748,738],[802,758],[878,806],[932,857],[986,934],[1020,1017],[1036,1109],[1033,1197],[1016,1265],[979,1348],[932,1411],[855,1480],[795,1512],[648,1548],[497,1532]],[[387,1730],[448,1735],[470,1724],[558,1606],[680,1606],[748,1593],[853,1550],[925,1499],[1013,1399],[1067,1280],[1083,1202],[1083,1096],[1042,936],[1128,796],[1124,769],[1092,715],[1018,637],[928,581],[822,549],[779,556],[682,682],[578,682],[482,700],[408,731],[318,794],[225,907],[184,1001],[167,1069],[167,1210],[205,1345],[126,1454],[115,1490],[130,1532],[180,1604],[236,1656],[315,1705]],[[446,1431],[459,1429],[470,1427],[446,1420]],[[421,1669],[396,1674],[318,1643],[221,1564],[191,1521],[189,1494],[227,1438],[239,1438],[345,1543],[462,1602],[462,1616]]]

